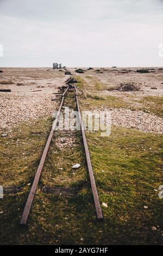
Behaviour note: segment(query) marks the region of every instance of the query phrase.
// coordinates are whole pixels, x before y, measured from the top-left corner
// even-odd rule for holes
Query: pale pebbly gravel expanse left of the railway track
[[[57,102],[51,100],[53,93],[58,92],[58,87],[65,81],[61,72],[51,70],[47,76],[46,69],[4,70],[0,81],[11,80],[13,84],[1,84],[2,89],[11,89],[12,92],[0,93],[0,131],[8,131],[22,121],[52,116],[54,109],[58,108]],[[41,88],[40,91],[33,92],[37,88]]]

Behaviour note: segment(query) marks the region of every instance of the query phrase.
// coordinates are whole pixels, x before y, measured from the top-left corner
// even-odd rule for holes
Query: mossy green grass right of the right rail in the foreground
[[[108,203],[104,215],[114,223],[111,229],[119,230],[118,236],[122,231],[122,243],[129,233],[129,244],[161,242],[162,200],[155,190],[162,182],[163,136],[114,127],[109,137],[99,132],[87,133],[87,138],[100,199]],[[158,233],[151,231],[152,225],[159,225]]]

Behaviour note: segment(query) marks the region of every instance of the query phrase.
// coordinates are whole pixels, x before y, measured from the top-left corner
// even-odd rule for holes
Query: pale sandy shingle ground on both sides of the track
[[[11,93],[0,92],[0,131],[10,130],[21,121],[29,121],[52,115],[54,109],[58,108],[57,102],[52,101],[53,93],[58,92],[58,87],[63,86],[67,77],[64,71],[51,68],[0,68],[0,88],[11,89]],[[87,70],[87,68],[83,68]],[[122,97],[133,106],[141,106],[136,102],[144,96],[163,95],[163,70],[154,68],[149,74],[139,74],[135,70],[139,68],[104,68],[100,69],[103,74],[96,72],[99,68],[87,70],[80,74],[87,86],[92,86],[95,81],[103,84],[102,95]],[[68,69],[72,74],[74,68]],[[92,79],[90,79],[92,77]],[[11,81],[12,84],[3,84],[3,81]],[[138,92],[118,92],[108,90],[124,82],[135,82],[141,84]],[[21,83],[18,84],[18,83]],[[152,89],[152,88],[156,89]],[[37,92],[34,92],[36,91]],[[154,114],[142,111],[131,111],[130,109],[111,109],[112,124],[131,127],[140,131],[162,133],[162,118]]]

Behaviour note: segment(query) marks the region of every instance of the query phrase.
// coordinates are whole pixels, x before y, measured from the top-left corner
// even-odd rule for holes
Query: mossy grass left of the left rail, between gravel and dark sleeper
[[[32,179],[51,128],[51,118],[24,122],[0,137],[0,183],[24,185]]]

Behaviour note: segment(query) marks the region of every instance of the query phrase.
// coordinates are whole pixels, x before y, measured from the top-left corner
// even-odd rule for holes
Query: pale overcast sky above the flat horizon
[[[0,66],[163,66],[163,0],[0,0]]]

